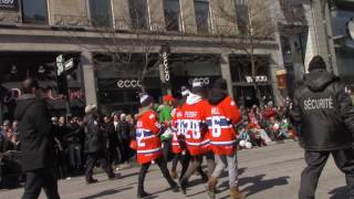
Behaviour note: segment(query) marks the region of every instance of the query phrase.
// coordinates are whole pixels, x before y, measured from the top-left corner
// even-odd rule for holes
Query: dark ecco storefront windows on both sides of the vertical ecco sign
[[[95,65],[97,100],[104,114],[123,111],[134,114],[139,107],[138,93],[142,86],[160,102],[163,86],[159,77],[158,54],[149,59],[148,72],[140,80],[145,64],[143,54],[132,54],[129,62],[123,59],[119,63],[100,63]],[[96,60],[97,57],[95,57]],[[201,81],[211,86],[217,77],[221,76],[219,55],[212,54],[170,54],[168,69],[170,90],[176,96],[181,86],[190,87],[194,81]]]

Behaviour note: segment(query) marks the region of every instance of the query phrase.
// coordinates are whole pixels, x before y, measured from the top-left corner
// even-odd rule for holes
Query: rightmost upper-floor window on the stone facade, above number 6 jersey
[[[248,0],[235,0],[236,10],[236,23],[239,30],[239,34],[247,33],[248,27]]]

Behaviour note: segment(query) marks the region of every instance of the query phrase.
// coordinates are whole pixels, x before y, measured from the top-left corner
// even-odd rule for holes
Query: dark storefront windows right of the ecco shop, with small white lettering
[[[252,78],[251,62],[246,55],[231,55],[230,71],[233,86],[233,97],[240,106],[260,105],[253,81],[260,91],[264,104],[273,102],[273,88],[268,56],[257,56],[256,78]]]

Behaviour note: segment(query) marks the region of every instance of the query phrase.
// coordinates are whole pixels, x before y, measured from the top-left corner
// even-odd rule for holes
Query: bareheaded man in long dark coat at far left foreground
[[[27,175],[22,199],[38,198],[42,188],[46,198],[59,199],[58,181],[53,171],[52,123],[44,101],[35,95],[38,87],[37,81],[25,80],[14,111],[21,132],[21,164]]]

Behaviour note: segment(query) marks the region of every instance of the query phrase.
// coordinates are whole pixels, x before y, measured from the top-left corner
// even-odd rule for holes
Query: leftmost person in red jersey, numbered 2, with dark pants
[[[140,94],[142,113],[138,115],[136,124],[137,161],[142,165],[138,177],[137,198],[149,196],[144,190],[144,180],[152,161],[158,165],[173,191],[177,192],[179,190],[178,185],[169,176],[167,164],[163,157],[159,138],[163,127],[158,123],[156,113],[152,109],[153,103],[153,97],[147,94]]]

